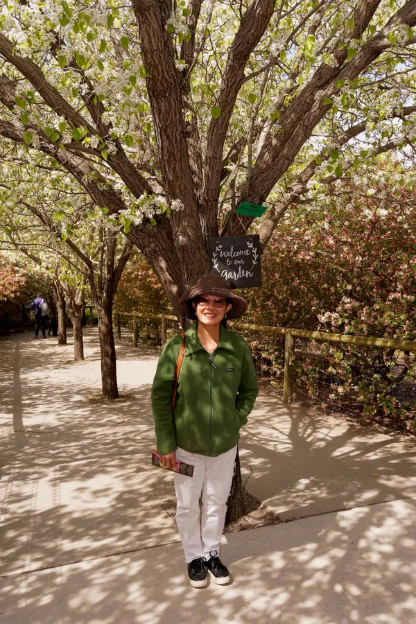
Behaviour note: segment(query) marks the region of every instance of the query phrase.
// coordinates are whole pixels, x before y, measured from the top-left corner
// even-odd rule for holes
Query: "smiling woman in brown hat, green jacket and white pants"
[[[180,300],[196,324],[185,334],[185,351],[171,399],[182,337],[166,343],[152,388],[157,447],[164,467],[175,460],[193,466],[193,477],[175,474],[176,522],[188,564],[189,583],[205,587],[207,573],[227,584],[229,570],[220,561],[227,499],[234,474],[240,427],[247,422],[259,392],[245,340],[227,331],[228,318],[248,308],[219,275],[204,275]],[[202,513],[200,497],[202,494]]]

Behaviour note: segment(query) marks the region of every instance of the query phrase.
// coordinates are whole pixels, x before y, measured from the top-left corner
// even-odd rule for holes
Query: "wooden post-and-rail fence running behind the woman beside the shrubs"
[[[140,312],[119,312],[115,314],[117,338],[121,340],[121,316],[132,317],[133,343],[137,347],[137,322],[136,318],[147,320],[160,319],[162,324],[162,345],[166,343],[166,321],[177,321],[176,316],[168,314],[142,314]],[[394,340],[389,338],[368,338],[367,336],[347,336],[344,333],[326,333],[324,331],[309,331],[307,329],[293,329],[291,327],[272,327],[271,325],[257,325],[252,323],[240,323],[228,321],[227,327],[234,329],[248,329],[262,333],[285,336],[284,349],[284,383],[283,400],[291,401],[293,396],[293,356],[295,355],[295,338],[310,338],[323,343],[344,343],[346,345],[359,345],[361,347],[381,347],[383,349],[395,349],[395,351],[416,352],[415,340]]]

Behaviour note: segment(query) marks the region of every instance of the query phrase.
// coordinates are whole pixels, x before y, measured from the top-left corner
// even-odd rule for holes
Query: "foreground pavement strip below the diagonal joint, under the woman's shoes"
[[[4,610],[33,624],[411,624],[414,512],[398,501],[227,534],[229,587],[189,587],[180,544],[9,576]]]

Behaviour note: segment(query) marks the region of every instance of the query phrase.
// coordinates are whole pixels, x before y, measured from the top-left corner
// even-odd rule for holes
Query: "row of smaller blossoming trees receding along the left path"
[[[67,202],[67,211],[59,214],[55,202],[47,200],[51,191],[48,184],[53,189],[53,176],[46,186],[35,185],[26,197],[19,197],[24,189],[21,178],[27,175],[27,169],[22,166],[18,174],[16,178],[10,175],[0,190],[1,246],[22,265],[40,272],[51,284],[58,310],[58,343],[63,345],[67,340],[64,322],[67,313],[73,326],[76,361],[84,358],[82,318],[86,297],[94,305],[98,314],[103,397],[116,399],[112,309],[123,269],[132,255],[132,245],[107,223],[101,211],[96,211],[96,219],[78,222],[73,208],[76,197]]]

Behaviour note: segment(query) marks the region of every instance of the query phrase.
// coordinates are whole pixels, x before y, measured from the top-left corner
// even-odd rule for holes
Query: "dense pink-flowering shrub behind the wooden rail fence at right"
[[[252,322],[415,340],[415,199],[370,184],[364,192],[349,183],[341,198],[280,223],[262,257],[263,287],[245,292]],[[263,372],[281,377],[275,337],[252,334],[251,346]],[[311,341],[302,349],[309,355],[295,351],[295,379],[309,399],[415,430],[414,354]]]

